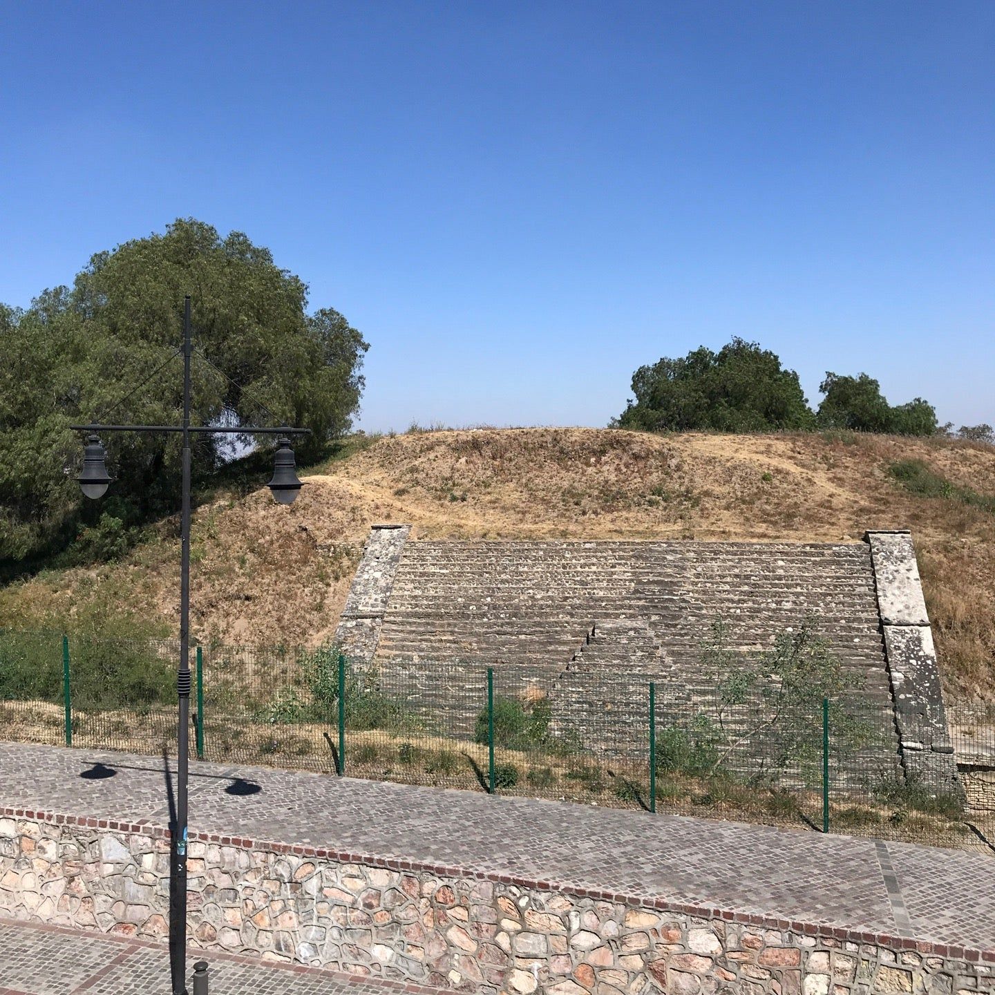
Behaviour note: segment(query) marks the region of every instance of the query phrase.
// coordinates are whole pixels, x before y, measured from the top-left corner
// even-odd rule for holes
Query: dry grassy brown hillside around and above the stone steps
[[[944,680],[995,697],[995,449],[947,440],[797,434],[657,437],[598,429],[479,429],[353,440],[291,507],[265,489],[197,509],[193,626],[201,638],[316,643],[333,633],[370,523],[414,537],[857,541],[909,527]],[[894,475],[920,461],[926,497]],[[968,497],[965,497],[967,495]],[[978,498],[978,500],[974,500]],[[985,502],[988,502],[987,504]],[[0,624],[129,616],[168,633],[175,522],[122,562],[0,591]]]

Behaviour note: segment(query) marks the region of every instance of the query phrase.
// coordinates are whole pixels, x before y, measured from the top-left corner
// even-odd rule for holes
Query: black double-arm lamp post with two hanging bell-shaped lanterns
[[[91,433],[84,451],[83,472],[77,478],[86,497],[102,497],[110,478],[100,444],[102,432],[182,432],[183,433],[183,510],[180,520],[180,660],[176,675],[179,698],[179,723],[176,746],[176,824],[172,827],[172,861],[169,875],[169,966],[173,995],[187,995],[186,990],[186,919],[187,919],[187,782],[190,771],[190,436],[235,435],[280,436],[273,480],[270,489],[281,504],[290,504],[300,493],[294,451],[290,436],[307,435],[309,429],[214,428],[190,424],[190,359],[193,338],[190,330],[190,298],[183,302],[183,424],[182,425],[73,425],[71,428]]]

